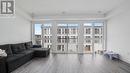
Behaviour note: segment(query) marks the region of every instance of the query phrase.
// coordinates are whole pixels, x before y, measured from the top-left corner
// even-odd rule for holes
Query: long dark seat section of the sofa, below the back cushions
[[[13,54],[13,56],[7,57],[6,64],[7,64],[7,71],[8,73],[12,73],[15,69],[20,67],[21,65],[25,64],[29,60],[33,58],[33,54]]]

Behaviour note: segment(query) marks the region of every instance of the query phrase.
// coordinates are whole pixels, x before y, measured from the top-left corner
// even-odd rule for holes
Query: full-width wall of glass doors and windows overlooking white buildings
[[[34,44],[53,53],[95,53],[104,50],[104,22],[50,21],[35,23]]]

